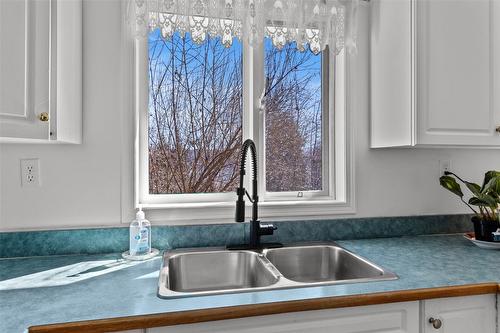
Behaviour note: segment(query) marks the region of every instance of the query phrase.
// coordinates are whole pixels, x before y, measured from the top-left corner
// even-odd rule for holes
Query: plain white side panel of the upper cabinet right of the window
[[[371,147],[414,144],[413,2],[371,1]]]

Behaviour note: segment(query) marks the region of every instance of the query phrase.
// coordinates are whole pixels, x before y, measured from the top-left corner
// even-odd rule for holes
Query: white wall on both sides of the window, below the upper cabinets
[[[467,210],[438,184],[440,159],[480,181],[500,169],[500,152],[481,149],[369,147],[368,8],[362,4],[354,59],[356,217],[453,214]],[[120,4],[84,3],[82,145],[0,145],[0,230],[119,225],[121,220]],[[20,158],[38,157],[42,187],[21,188]],[[132,180],[130,179],[130,182]]]

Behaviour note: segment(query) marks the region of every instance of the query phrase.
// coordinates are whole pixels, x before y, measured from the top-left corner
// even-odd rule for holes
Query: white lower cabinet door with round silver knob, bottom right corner
[[[495,333],[496,296],[467,296],[441,298],[422,302],[424,333]],[[430,318],[441,321],[440,328],[434,328]]]

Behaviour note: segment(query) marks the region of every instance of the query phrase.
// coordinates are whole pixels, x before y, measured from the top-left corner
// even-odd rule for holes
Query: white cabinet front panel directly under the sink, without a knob
[[[294,312],[147,329],[147,333],[418,333],[418,302]]]

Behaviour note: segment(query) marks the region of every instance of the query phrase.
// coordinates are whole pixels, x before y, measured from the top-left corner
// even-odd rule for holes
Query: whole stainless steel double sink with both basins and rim
[[[178,298],[392,279],[396,274],[335,243],[259,251],[178,249],[163,255],[158,295]]]

